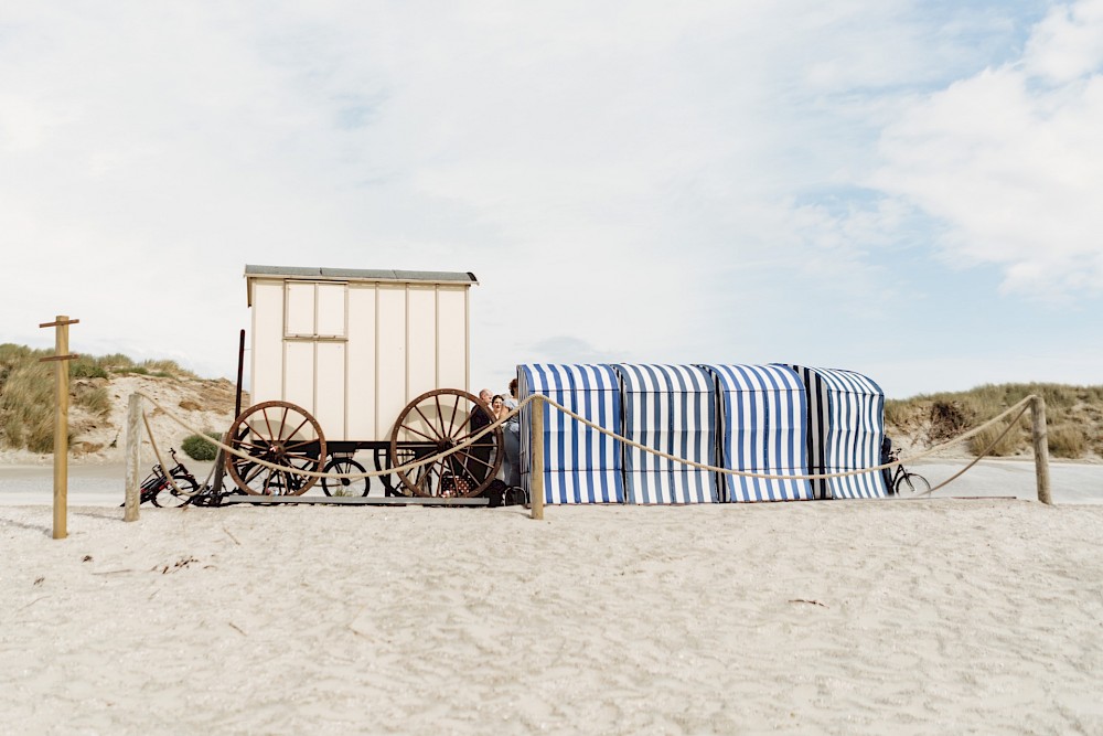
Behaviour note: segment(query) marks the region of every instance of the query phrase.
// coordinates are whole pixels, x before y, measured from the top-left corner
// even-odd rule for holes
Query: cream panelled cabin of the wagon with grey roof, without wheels
[[[469,391],[473,274],[245,267],[254,404],[285,401],[326,440],[385,440],[440,387]]]

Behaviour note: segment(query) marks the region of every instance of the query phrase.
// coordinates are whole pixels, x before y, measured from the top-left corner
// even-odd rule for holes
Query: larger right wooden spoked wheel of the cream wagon
[[[395,422],[390,465],[401,465],[399,459],[409,462],[414,446],[419,457],[450,450],[489,425],[491,416],[490,407],[465,391],[427,391],[407,404]],[[481,493],[501,467],[502,427],[495,427],[459,452],[396,474],[415,495],[467,497]]]

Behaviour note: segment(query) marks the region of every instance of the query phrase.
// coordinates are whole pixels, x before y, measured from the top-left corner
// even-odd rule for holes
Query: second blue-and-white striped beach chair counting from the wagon
[[[629,439],[679,458],[716,465],[716,386],[693,365],[614,365]],[[624,446],[629,503],[713,503],[716,473]]]

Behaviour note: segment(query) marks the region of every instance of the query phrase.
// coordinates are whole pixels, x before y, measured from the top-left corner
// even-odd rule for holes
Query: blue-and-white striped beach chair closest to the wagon
[[[517,366],[517,396],[543,394],[622,434],[620,382],[608,365]],[[532,404],[521,412],[521,484],[531,491]],[[545,503],[623,503],[621,446],[555,407],[544,414]]]

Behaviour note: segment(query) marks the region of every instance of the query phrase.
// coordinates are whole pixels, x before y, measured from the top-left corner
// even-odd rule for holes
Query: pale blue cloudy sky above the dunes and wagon
[[[1103,0],[0,0],[0,343],[235,377],[246,264],[518,363],[1103,383]]]

